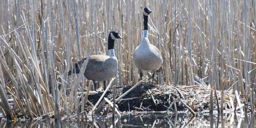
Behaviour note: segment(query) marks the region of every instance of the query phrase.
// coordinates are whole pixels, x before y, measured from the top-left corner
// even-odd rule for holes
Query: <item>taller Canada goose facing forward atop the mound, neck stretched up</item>
[[[140,79],[142,79],[142,71],[152,71],[152,84],[154,81],[155,71],[158,70],[162,63],[162,55],[158,48],[152,44],[150,44],[148,40],[148,29],[147,29],[147,21],[148,15],[152,11],[150,8],[146,7],[143,10],[143,18],[144,18],[144,30],[142,33],[142,39],[140,41],[139,46],[134,50],[133,53],[133,61],[140,69]]]

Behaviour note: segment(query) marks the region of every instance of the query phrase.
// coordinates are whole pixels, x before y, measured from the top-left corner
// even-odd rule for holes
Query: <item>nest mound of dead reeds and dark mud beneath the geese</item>
[[[124,94],[127,90],[131,89],[132,86],[117,88],[116,98]],[[113,90],[108,90],[104,97],[112,99]],[[127,95],[125,95],[120,101],[116,103],[120,112],[127,111],[140,111],[140,112],[160,112],[166,111],[174,99],[182,99],[191,109],[195,112],[202,112],[209,110],[210,108],[210,89],[200,87],[199,85],[195,86],[168,86],[168,85],[151,85],[141,83]],[[221,104],[221,92],[217,92],[218,104]],[[89,95],[88,100],[95,104],[99,97],[101,97],[102,92],[99,92],[94,95]],[[213,96],[215,96],[213,91]],[[224,103],[223,109],[230,110],[234,109],[233,101],[234,94],[231,91],[224,91],[223,94]],[[217,100],[214,99],[214,110],[217,110]],[[179,101],[176,100],[176,106],[178,111],[188,110],[185,106]],[[107,103],[102,108],[102,112],[108,110],[109,106]],[[174,107],[170,107],[171,110]],[[110,108],[111,110],[111,108]]]

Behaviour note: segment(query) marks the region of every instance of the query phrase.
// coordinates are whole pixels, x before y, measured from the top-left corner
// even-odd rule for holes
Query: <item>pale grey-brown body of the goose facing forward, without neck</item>
[[[136,67],[145,71],[156,71],[163,63],[161,52],[150,44],[148,38],[142,38],[140,41],[133,53],[133,61]]]

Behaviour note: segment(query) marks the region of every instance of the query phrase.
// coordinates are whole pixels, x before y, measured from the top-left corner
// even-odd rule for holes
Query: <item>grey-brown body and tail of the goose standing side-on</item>
[[[76,63],[73,69],[68,72],[68,75],[71,75],[72,73],[79,74],[80,68],[86,59],[87,57]],[[87,67],[84,71],[84,76],[89,80],[104,81],[112,78],[116,74],[117,69],[118,61],[116,57],[92,55],[90,56]]]

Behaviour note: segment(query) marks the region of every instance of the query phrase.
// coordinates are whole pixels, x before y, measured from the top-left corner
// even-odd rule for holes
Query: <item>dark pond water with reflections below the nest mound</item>
[[[0,128],[55,128],[54,120],[0,122]],[[61,128],[113,128],[110,117],[94,117],[87,122],[63,121]],[[239,114],[127,114],[116,120],[116,128],[256,128],[256,115]]]

